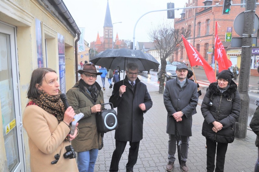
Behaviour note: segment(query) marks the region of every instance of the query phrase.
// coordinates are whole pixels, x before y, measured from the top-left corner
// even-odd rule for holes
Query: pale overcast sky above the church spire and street
[[[107,0],[63,0],[78,27],[85,28],[85,40],[96,40],[97,32],[103,36],[103,25]],[[109,0],[113,24],[113,40],[118,33],[120,40],[133,41],[133,29],[141,15],[149,11],[167,9],[169,0]],[[183,8],[188,0],[175,0],[174,8]],[[175,11],[175,18],[181,17],[182,9]],[[135,45],[138,42],[150,42],[148,32],[153,26],[167,19],[167,12],[151,12],[144,15],[136,25]]]

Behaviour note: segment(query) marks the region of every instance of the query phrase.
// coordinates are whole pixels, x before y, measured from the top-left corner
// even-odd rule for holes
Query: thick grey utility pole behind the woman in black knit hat
[[[245,10],[245,23],[244,23],[244,33],[242,35],[242,53],[241,53],[241,65],[240,65],[240,76],[238,82],[238,91],[241,99],[241,111],[236,123],[236,135],[235,137],[239,139],[246,138],[247,134],[247,121],[249,113],[249,76],[250,76],[250,59],[251,50],[254,36],[254,15],[256,8],[256,0],[246,1]],[[245,82],[244,82],[245,81]]]

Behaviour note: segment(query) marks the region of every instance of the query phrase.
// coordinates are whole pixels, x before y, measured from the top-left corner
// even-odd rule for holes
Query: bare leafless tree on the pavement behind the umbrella
[[[176,52],[178,47],[184,45],[181,35],[191,36],[191,30],[185,29],[184,27],[181,29],[174,29],[174,27],[167,22],[158,25],[157,28],[153,28],[149,32],[150,40],[154,42],[154,47],[161,59],[159,94],[164,93],[164,77],[167,57]]]

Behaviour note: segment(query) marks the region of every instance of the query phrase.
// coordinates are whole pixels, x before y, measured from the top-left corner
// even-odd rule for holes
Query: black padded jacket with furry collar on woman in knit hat
[[[217,86],[217,82],[211,83],[202,101],[202,136],[219,143],[232,143],[235,138],[235,122],[238,121],[241,108],[237,84],[231,80],[229,88],[222,94]],[[212,102],[211,106],[209,102]],[[218,132],[212,131],[214,121],[223,125]]]

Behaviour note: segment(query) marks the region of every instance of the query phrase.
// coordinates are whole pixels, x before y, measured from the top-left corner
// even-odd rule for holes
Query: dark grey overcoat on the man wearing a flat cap
[[[177,79],[166,82],[164,89],[164,105],[167,110],[166,133],[175,135],[175,112],[182,111],[182,121],[177,122],[179,135],[192,136],[192,115],[196,113],[198,104],[197,84],[188,79],[181,88]]]

